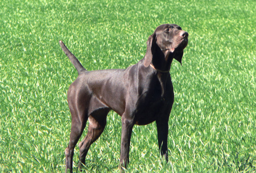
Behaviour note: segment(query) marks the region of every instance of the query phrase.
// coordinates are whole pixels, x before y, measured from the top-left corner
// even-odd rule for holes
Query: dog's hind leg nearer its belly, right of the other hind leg
[[[86,155],[91,144],[95,142],[104,131],[106,125],[106,117],[109,111],[109,108],[103,108],[95,111],[92,115],[89,116],[88,133],[86,137],[84,137],[84,139],[79,143],[79,169],[81,169],[85,163]]]

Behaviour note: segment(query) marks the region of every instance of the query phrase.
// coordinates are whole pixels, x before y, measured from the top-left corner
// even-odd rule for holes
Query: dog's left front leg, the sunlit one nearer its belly
[[[134,122],[122,116],[122,135],[121,135],[121,152],[120,152],[120,169],[126,168],[129,164],[129,151]]]

